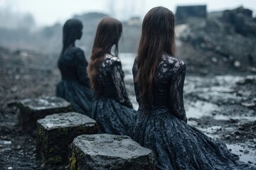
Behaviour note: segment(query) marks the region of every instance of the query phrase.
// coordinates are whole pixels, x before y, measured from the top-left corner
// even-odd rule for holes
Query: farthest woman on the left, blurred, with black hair
[[[58,59],[61,81],[56,96],[69,101],[74,111],[89,115],[93,94],[87,77],[87,61],[84,52],[75,47],[75,40],[82,37],[82,22],[69,19],[63,26],[63,49]]]

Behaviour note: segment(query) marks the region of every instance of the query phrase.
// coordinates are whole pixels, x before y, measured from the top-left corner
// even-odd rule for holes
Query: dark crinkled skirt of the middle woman
[[[92,103],[91,118],[100,125],[100,133],[127,135],[135,111],[112,98],[97,98]]]

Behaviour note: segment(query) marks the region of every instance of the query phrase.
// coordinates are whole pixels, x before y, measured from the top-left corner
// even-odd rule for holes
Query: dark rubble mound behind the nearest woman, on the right
[[[186,23],[178,57],[186,61],[189,72],[256,72],[256,22],[248,11],[240,7]]]

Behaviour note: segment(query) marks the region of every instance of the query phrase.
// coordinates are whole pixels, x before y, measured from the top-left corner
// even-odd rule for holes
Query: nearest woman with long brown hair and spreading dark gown
[[[152,8],[142,23],[133,67],[139,110],[131,137],[152,149],[158,169],[245,169],[223,143],[186,124],[186,64],[174,55],[174,14],[168,8]]]

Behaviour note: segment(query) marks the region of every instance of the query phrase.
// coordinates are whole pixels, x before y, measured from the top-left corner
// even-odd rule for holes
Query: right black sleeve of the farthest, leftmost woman
[[[75,68],[78,74],[79,81],[87,87],[90,87],[89,79],[87,77],[87,61],[85,59],[85,54],[82,50],[75,52]]]

